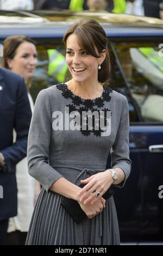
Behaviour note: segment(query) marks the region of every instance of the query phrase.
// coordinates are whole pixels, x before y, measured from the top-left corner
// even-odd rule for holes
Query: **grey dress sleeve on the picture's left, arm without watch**
[[[27,160],[29,174],[38,180],[46,191],[62,177],[48,164],[51,129],[51,103],[45,90],[42,90],[37,96],[30,124]]]

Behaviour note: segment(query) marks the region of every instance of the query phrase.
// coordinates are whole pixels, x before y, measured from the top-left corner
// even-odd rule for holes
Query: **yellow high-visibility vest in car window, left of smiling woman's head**
[[[55,49],[48,49],[47,52],[49,57],[48,75],[54,76],[60,83],[65,82],[67,65],[64,55]]]

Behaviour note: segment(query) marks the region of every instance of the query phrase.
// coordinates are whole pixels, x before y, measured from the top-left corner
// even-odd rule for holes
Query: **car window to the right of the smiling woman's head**
[[[153,42],[117,43],[114,48],[131,96],[145,122],[163,122],[163,45]]]

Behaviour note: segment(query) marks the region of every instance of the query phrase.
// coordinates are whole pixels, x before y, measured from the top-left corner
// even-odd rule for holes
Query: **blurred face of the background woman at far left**
[[[37,51],[31,42],[22,42],[16,49],[13,59],[8,59],[10,70],[20,74],[24,80],[28,80],[33,76],[37,65]]]

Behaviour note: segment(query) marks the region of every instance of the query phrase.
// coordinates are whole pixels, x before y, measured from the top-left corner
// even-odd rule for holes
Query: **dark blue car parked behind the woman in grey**
[[[68,79],[62,36],[79,19],[96,19],[108,36],[110,87],[126,95],[132,169],[114,188],[122,242],[163,244],[163,21],[108,13],[0,12],[0,43],[24,34],[37,44],[39,64],[30,92]],[[108,159],[110,167],[110,159]]]

